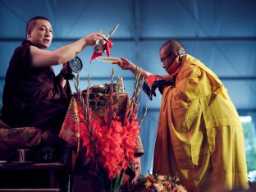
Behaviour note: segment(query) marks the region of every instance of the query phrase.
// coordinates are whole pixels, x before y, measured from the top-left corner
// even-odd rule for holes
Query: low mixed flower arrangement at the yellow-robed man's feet
[[[131,188],[132,191],[168,191],[186,192],[177,176],[149,174],[141,176]]]

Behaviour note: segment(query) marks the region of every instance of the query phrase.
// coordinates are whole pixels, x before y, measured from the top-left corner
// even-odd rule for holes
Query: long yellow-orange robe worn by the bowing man
[[[236,109],[221,80],[190,55],[162,92],[153,171],[178,175],[188,191],[249,188]]]

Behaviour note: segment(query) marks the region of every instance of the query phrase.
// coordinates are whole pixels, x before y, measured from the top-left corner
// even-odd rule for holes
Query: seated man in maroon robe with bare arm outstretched
[[[26,27],[26,40],[11,57],[2,97],[2,121],[11,127],[34,126],[57,135],[70,100],[71,88],[62,78],[66,62],[88,45],[105,36],[93,33],[55,51],[45,50],[53,39],[47,18],[33,17]],[[63,63],[60,75],[53,67]]]

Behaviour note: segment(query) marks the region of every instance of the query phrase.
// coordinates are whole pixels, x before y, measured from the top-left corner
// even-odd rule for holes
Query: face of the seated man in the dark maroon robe
[[[38,48],[48,48],[53,39],[51,23],[46,20],[37,20],[34,28],[27,32],[27,39]]]

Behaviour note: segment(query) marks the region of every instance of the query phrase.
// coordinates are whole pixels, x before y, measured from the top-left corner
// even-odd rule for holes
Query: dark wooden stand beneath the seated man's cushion
[[[70,191],[70,176],[60,162],[0,164],[0,191]]]

